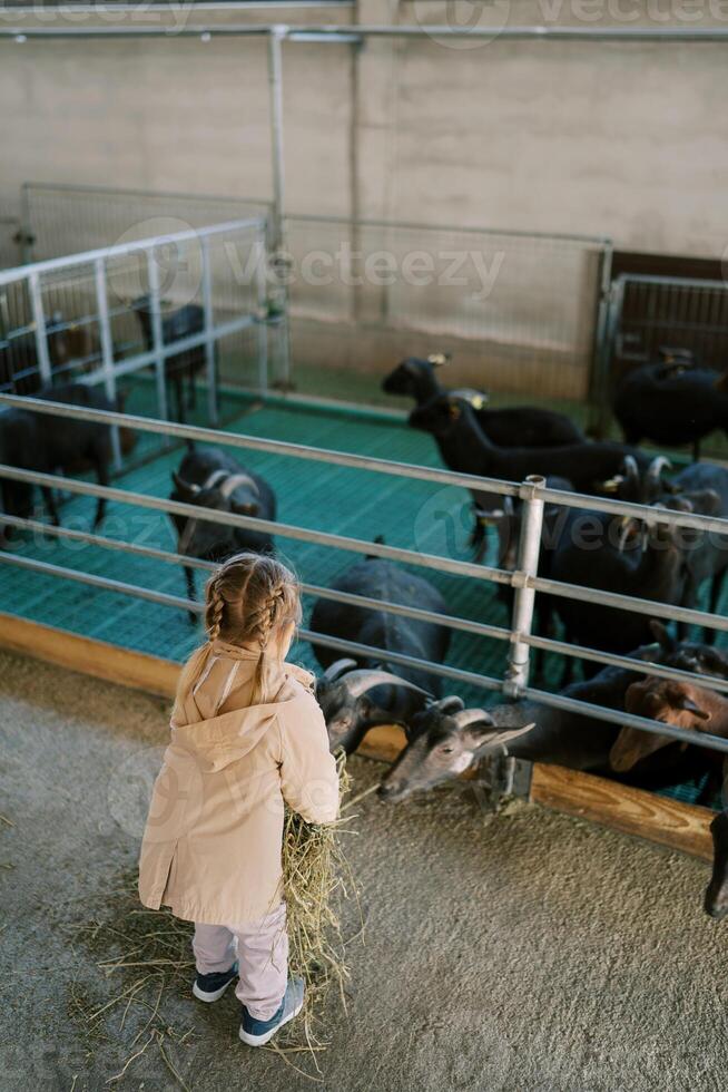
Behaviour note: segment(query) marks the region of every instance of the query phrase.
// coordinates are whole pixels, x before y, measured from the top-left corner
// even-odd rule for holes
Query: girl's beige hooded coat
[[[175,706],[141,844],[145,906],[207,925],[264,917],[283,897],[284,800],[308,822],[336,818],[338,778],[313,675],[266,661],[266,701],[250,705],[257,659],[216,641]]]

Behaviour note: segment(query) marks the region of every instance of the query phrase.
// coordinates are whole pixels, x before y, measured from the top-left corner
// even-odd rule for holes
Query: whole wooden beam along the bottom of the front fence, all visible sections
[[[171,660],[3,613],[0,613],[0,646],[167,699],[175,695],[180,671],[179,664]],[[404,732],[397,725],[373,728],[360,753],[393,762],[405,742]],[[708,808],[540,762],[533,766],[530,799],[545,808],[637,835],[693,857],[712,858],[709,827],[715,812]]]

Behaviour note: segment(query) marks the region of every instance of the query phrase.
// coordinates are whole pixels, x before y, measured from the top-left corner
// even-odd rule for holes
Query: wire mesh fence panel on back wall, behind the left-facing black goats
[[[455,384],[589,398],[609,240],[287,216],[285,244],[296,377],[444,351]]]

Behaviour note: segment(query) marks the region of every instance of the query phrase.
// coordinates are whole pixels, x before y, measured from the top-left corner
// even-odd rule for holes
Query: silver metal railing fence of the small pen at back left
[[[184,364],[187,382],[204,371],[215,423],[220,358],[267,384],[265,231],[236,220],[0,273],[0,391],[81,380],[116,403],[120,379],[153,368],[166,419],[167,380]]]

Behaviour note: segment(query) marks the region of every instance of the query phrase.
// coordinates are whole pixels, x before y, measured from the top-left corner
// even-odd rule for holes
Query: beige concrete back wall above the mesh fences
[[[667,22],[657,0],[630,2],[604,0],[601,11],[600,0],[495,0],[483,18],[494,27],[728,20],[717,0],[689,21],[670,0]],[[289,22],[447,17],[451,8],[430,0],[275,13]],[[289,43],[288,207],[609,234],[622,247],[719,256],[726,98],[722,45]],[[262,40],[2,41],[0,101],[1,203],[17,202],[29,178],[270,192]]]

